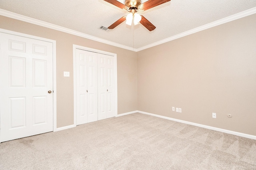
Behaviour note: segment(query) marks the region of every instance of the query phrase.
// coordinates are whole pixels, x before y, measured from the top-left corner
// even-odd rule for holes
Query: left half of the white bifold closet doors
[[[98,120],[97,53],[76,49],[76,125]]]

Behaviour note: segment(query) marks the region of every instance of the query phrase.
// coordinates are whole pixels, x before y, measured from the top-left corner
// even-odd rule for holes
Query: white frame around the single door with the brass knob
[[[52,43],[52,74],[53,74],[53,91],[54,91],[53,92],[53,131],[54,132],[57,131],[56,41],[52,39],[46,39],[46,38],[37,37],[34,35],[28,35],[28,34],[19,33],[19,32],[10,31],[10,30],[1,29],[1,28],[0,28],[0,32]]]

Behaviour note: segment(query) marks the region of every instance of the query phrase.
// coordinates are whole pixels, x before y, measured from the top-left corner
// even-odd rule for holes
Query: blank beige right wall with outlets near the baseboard
[[[138,52],[138,110],[256,135],[255,21],[256,14]]]

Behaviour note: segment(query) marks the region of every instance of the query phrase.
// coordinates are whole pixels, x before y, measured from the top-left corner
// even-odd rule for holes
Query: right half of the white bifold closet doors
[[[98,120],[114,117],[114,58],[98,54]]]

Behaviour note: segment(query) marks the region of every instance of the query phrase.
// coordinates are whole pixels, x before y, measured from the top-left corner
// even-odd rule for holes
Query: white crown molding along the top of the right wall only
[[[194,28],[194,29],[190,29],[189,31],[185,31],[183,33],[180,33],[180,34],[177,34],[177,35],[174,35],[172,37],[169,37],[169,38],[166,38],[166,39],[163,39],[163,40],[160,40],[160,41],[157,41],[155,43],[152,43],[152,44],[149,44],[149,45],[146,45],[144,47],[140,47],[138,49],[135,49],[134,51],[138,52],[138,51],[142,51],[144,49],[148,49],[150,47],[154,47],[156,45],[160,45],[160,44],[163,44],[163,43],[166,43],[166,42],[169,42],[169,41],[172,41],[174,39],[178,39],[178,38],[181,38],[181,37],[185,37],[187,35],[190,35],[190,34],[193,34],[193,33],[196,33],[196,32],[199,32],[199,31],[202,31],[204,29],[208,29],[208,28],[211,28],[211,27],[215,27],[217,25],[221,25],[223,23],[226,23],[226,22],[230,22],[230,21],[234,21],[234,20],[237,20],[239,18],[243,18],[243,17],[246,17],[246,16],[249,16],[249,15],[252,15],[252,14],[255,14],[256,13],[256,7],[254,8],[251,8],[249,10],[246,10],[246,11],[243,11],[243,12],[240,12],[240,13],[237,13],[237,14],[234,14],[232,16],[228,16],[226,18],[222,18],[220,20],[217,20],[217,21],[213,21],[211,23],[208,23],[206,25],[202,25],[200,27],[197,27],[197,28]]]

